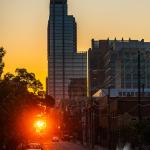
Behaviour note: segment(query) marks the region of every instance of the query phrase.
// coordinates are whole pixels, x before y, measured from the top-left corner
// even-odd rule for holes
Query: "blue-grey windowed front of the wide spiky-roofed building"
[[[138,87],[138,51],[140,52],[141,85],[150,88],[150,42],[114,40],[105,54],[105,87]]]

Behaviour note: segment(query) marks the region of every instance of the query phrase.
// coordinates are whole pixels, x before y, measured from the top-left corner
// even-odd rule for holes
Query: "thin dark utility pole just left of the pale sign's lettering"
[[[111,150],[111,111],[110,111],[110,87],[108,87],[108,96],[107,96],[107,119],[108,119],[108,150]]]

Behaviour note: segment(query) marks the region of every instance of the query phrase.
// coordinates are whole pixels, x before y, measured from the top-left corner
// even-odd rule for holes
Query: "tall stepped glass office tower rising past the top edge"
[[[76,22],[68,15],[67,0],[50,1],[48,22],[47,93],[68,99],[73,78],[86,78],[86,53],[77,53]]]

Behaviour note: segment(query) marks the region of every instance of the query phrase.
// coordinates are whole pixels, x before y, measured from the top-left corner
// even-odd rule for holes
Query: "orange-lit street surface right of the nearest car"
[[[49,142],[44,143],[44,150],[87,150],[87,148],[69,142]]]

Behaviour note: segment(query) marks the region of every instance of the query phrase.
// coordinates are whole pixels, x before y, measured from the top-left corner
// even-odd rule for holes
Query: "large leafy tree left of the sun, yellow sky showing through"
[[[36,86],[36,87],[35,87]],[[20,140],[22,137],[22,122],[18,121],[26,110],[40,110],[38,104],[43,102],[36,93],[43,89],[35,74],[26,69],[17,69],[16,74],[7,73],[0,82],[0,141]],[[32,92],[31,92],[32,91]],[[0,144],[1,145],[1,144]],[[0,147],[1,149],[1,147]],[[15,148],[14,148],[15,149]]]

